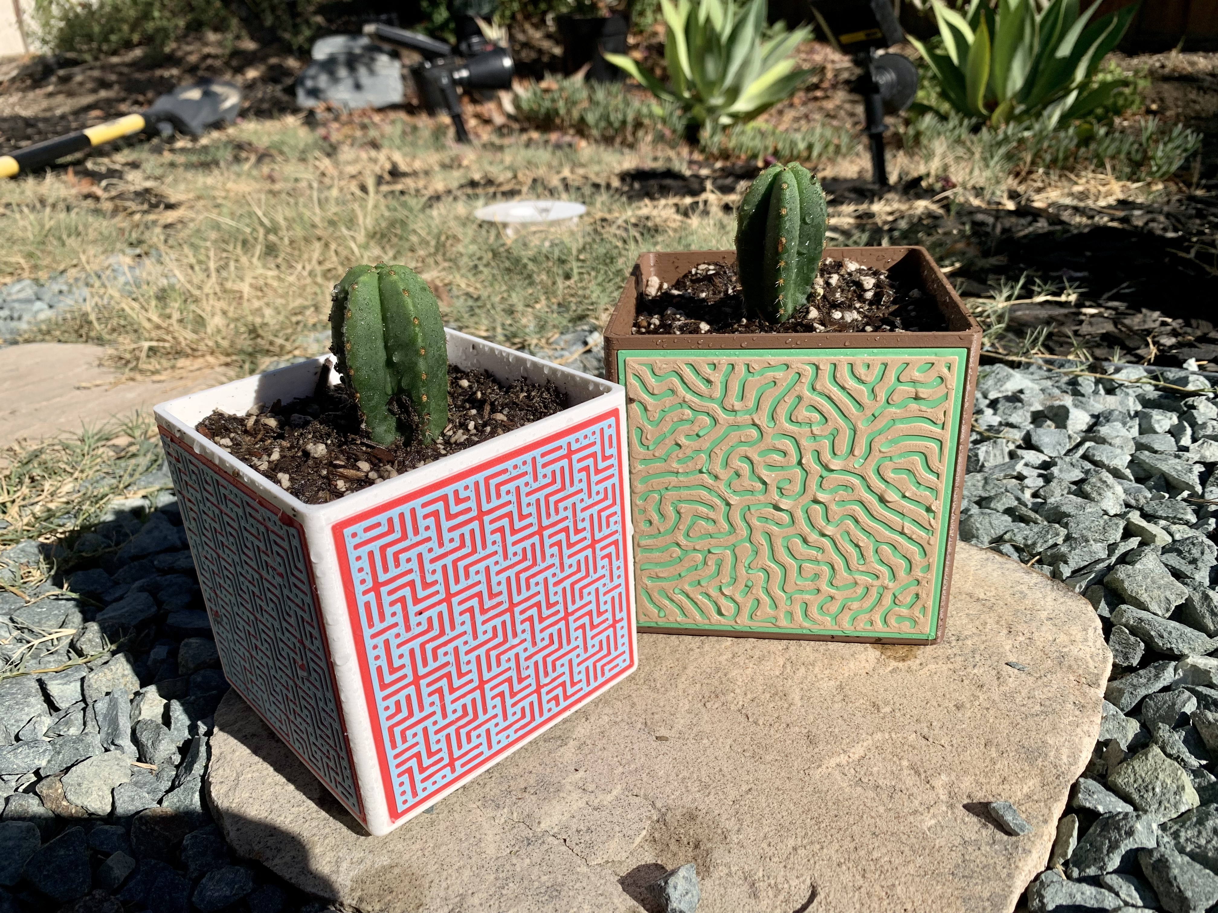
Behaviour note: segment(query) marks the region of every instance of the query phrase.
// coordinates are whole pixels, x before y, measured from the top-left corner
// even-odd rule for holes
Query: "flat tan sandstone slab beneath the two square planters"
[[[934,646],[641,635],[633,676],[386,838],[229,691],[212,807],[239,853],[362,911],[637,912],[695,862],[699,913],[1009,913],[1110,654],[1086,600],[1015,561],[961,543],[952,590]]]

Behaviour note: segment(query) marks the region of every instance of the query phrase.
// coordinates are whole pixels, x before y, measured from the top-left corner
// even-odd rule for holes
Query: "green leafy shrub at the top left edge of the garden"
[[[37,0],[34,22],[51,50],[85,60],[130,47],[162,55],[186,34],[238,27],[223,0]]]

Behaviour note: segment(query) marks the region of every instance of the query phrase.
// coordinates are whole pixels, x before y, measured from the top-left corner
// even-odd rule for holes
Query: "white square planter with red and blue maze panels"
[[[331,359],[155,410],[224,674],[375,835],[637,663],[622,388],[453,330],[448,359],[569,408],[315,505],[195,426]]]

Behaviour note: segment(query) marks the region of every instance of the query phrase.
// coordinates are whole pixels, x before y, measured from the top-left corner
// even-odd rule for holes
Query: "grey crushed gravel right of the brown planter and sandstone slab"
[[[1085,595],[1114,663],[1030,913],[1218,901],[1218,401],[1151,370],[979,374],[960,538]]]

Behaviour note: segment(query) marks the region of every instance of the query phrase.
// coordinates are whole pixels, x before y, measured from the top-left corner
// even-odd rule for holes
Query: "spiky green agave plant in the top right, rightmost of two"
[[[915,38],[943,97],[967,117],[1000,125],[1047,114],[1055,123],[1105,107],[1128,83],[1095,83],[1104,56],[1125,34],[1138,4],[1091,22],[1079,0],[972,0],[956,11],[933,0],[943,50]]]

